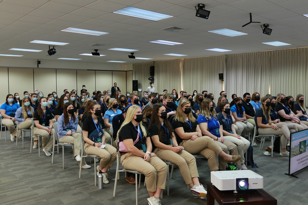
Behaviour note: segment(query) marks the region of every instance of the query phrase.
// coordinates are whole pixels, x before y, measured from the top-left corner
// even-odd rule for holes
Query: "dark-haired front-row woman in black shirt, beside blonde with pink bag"
[[[153,106],[149,131],[153,142],[153,152],[161,160],[176,164],[185,183],[189,185],[190,190],[193,192],[193,196],[204,199],[206,191],[199,182],[196,159],[189,152],[186,152],[184,147],[177,144],[163,104],[158,103]]]

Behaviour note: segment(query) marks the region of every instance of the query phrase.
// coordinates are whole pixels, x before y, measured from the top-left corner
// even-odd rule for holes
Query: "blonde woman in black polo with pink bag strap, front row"
[[[145,175],[150,195],[148,204],[158,205],[161,191],[166,185],[167,165],[152,152],[150,134],[141,121],[140,106],[130,106],[117,134],[121,164],[125,169],[137,170]]]

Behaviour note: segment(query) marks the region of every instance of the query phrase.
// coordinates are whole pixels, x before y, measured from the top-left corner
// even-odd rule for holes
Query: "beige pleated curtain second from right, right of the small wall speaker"
[[[269,93],[270,52],[254,52],[226,55],[225,91],[243,97],[244,93]]]

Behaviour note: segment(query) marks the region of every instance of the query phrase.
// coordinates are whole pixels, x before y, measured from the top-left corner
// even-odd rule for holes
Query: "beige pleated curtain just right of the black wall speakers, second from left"
[[[164,89],[171,93],[176,89],[177,93],[180,92],[182,77],[181,77],[181,59],[170,61],[155,61],[155,92],[161,94]]]

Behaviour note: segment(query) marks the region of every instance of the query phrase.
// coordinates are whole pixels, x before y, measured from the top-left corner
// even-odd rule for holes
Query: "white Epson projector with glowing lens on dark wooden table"
[[[263,189],[263,176],[251,170],[211,171],[211,183],[219,190]]]

